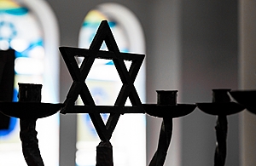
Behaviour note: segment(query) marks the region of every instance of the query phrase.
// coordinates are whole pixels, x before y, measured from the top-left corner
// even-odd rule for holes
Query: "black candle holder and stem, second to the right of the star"
[[[207,114],[217,116],[214,166],[224,166],[226,158],[226,140],[228,132],[227,116],[244,110],[244,106],[230,101],[230,89],[212,89],[212,103],[196,103],[198,108]]]

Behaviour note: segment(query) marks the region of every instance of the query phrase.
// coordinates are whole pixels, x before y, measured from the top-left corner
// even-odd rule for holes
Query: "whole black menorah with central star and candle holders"
[[[106,43],[108,51],[100,50],[103,42]],[[101,140],[99,145],[96,146],[96,166],[113,166],[113,147],[110,140],[119,117],[123,114],[143,113],[162,119],[158,146],[149,166],[164,165],[172,140],[173,118],[188,115],[195,110],[196,106],[202,112],[217,116],[215,127],[217,146],[214,165],[224,166],[227,154],[227,116],[241,112],[245,108],[250,112],[256,113],[254,104],[255,91],[231,91],[230,89],[212,89],[212,102],[196,104],[177,104],[177,90],[157,90],[157,103],[143,104],[137,94],[134,81],[145,55],[119,52],[107,20],[102,21],[89,49],[61,47],[60,52],[73,79],[64,103],[42,103],[42,85],[32,83],[19,83],[19,102],[0,101],[0,112],[9,117],[20,118],[20,140],[22,142],[23,156],[28,166],[44,165],[38,148],[37,131],[35,129],[37,119],[49,117],[59,111],[62,115],[67,113],[89,114],[96,133]],[[84,57],[80,67],[75,60],[77,56]],[[122,87],[113,106],[96,106],[90,94],[90,89],[85,83],[91,66],[96,59],[113,60],[113,65],[119,73]],[[125,60],[131,61],[129,69],[125,66]],[[0,83],[3,80],[1,80],[2,75],[0,68]],[[79,95],[84,106],[75,105]],[[230,101],[230,95],[237,102]],[[128,98],[131,100],[131,106],[125,106],[125,101]],[[102,113],[109,113],[106,124],[102,120]]]

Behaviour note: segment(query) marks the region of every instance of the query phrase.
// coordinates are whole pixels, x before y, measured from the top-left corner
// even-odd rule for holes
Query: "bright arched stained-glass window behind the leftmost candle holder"
[[[55,24],[54,15],[43,1],[0,1],[0,49],[15,49],[14,101],[18,100],[17,83],[43,84],[42,102],[59,100],[59,44]],[[38,120],[39,147],[46,165],[58,165],[58,130],[57,115]],[[16,118],[12,118],[9,129],[0,130],[1,165],[26,165],[21,152],[19,132],[19,121]],[[52,136],[49,138],[45,134]]]

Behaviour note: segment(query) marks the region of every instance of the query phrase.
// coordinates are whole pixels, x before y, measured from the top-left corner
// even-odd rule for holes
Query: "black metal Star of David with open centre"
[[[106,43],[108,51],[100,50],[103,42]],[[102,21],[89,49],[61,47],[60,51],[67,65],[67,69],[73,78],[73,84],[69,89],[67,99],[64,102],[65,107],[62,108],[61,113],[89,113],[96,132],[103,141],[110,140],[113,129],[121,114],[129,112],[144,113],[141,100],[134,87],[134,81],[142,66],[145,55],[120,53],[107,20]],[[84,57],[80,67],[75,60],[75,56]],[[85,83],[85,79],[96,58],[113,60],[113,64],[123,83],[114,106],[96,106],[90,90]],[[129,71],[125,66],[124,60],[131,60]],[[74,105],[79,95],[84,106]],[[132,106],[125,106],[125,101],[128,97],[131,100]],[[106,125],[103,123],[100,113],[110,113]]]

